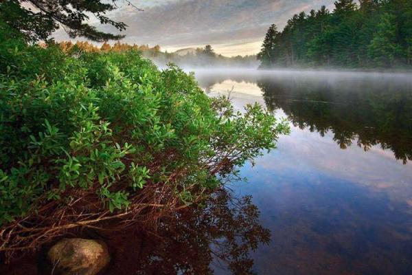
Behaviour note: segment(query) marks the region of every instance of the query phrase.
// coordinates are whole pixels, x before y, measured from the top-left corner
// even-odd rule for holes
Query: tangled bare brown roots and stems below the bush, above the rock
[[[198,192],[195,200],[202,198],[203,191]],[[0,252],[5,254],[6,260],[10,261],[16,252],[36,250],[79,228],[117,231],[136,223],[155,225],[160,217],[187,207],[165,184],[146,186],[129,198],[130,208],[117,212],[103,208],[95,190],[67,192],[65,197],[71,199],[61,204],[56,201],[46,203],[38,211],[1,228]]]

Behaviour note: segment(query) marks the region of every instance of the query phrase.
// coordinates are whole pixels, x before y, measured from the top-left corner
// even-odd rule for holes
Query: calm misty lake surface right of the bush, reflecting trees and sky
[[[268,245],[258,274],[412,274],[412,75],[198,71],[211,96],[266,105],[292,133],[242,168]],[[227,265],[211,265],[228,274]]]

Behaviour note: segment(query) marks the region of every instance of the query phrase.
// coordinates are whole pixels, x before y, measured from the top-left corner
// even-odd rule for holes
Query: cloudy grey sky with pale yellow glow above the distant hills
[[[126,1],[108,17],[128,25],[124,43],[160,45],[174,52],[187,47],[210,44],[225,56],[257,54],[269,26],[284,28],[293,14],[321,5],[333,10],[334,0],[132,0],[144,8],[139,12]],[[99,30],[115,32],[110,26]],[[69,40],[63,30],[55,34],[57,41]],[[81,40],[81,39],[74,39]]]

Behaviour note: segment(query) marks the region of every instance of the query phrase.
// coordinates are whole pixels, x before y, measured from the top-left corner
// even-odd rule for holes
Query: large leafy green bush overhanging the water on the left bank
[[[190,204],[288,131],[258,104],[234,111],[139,52],[65,54],[1,35],[0,224],[63,207],[127,212],[148,186]]]

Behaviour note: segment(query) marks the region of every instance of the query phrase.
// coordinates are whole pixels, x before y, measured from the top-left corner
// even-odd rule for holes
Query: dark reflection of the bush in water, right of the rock
[[[270,232],[262,228],[258,217],[251,197],[233,199],[221,190],[205,206],[162,220],[156,234],[139,236],[140,252],[129,251],[132,259],[108,274],[213,274],[214,259],[225,263],[233,274],[253,274],[249,252],[270,240]]]

